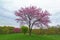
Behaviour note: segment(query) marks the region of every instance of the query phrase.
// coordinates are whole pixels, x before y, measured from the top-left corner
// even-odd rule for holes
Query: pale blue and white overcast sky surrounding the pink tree
[[[60,0],[0,0],[0,25],[19,27],[14,11],[28,6],[37,6],[49,11],[50,25],[60,24]]]

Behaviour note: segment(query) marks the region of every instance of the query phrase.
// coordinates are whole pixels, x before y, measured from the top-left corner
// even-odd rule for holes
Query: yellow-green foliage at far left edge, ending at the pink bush
[[[13,33],[14,27],[12,26],[0,26],[0,34]]]

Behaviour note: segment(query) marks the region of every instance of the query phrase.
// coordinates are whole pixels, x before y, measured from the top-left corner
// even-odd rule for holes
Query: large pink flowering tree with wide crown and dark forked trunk
[[[43,24],[48,26],[48,23],[50,22],[50,14],[48,11],[42,11],[41,8],[37,8],[35,6],[21,8],[15,12],[15,15],[19,17],[16,19],[18,22],[22,22],[28,25],[29,35],[31,35],[31,31],[34,25]]]

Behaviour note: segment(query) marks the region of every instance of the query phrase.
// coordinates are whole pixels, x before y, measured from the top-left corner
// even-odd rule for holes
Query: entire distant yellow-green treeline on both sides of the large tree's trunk
[[[0,34],[22,33],[21,28],[13,26],[0,26]],[[49,27],[48,29],[33,29],[34,34],[60,34],[60,27]]]

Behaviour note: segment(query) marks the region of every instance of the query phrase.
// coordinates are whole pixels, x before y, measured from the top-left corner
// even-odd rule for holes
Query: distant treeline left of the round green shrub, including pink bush
[[[14,28],[13,26],[0,26],[0,34],[19,33],[20,28]]]

